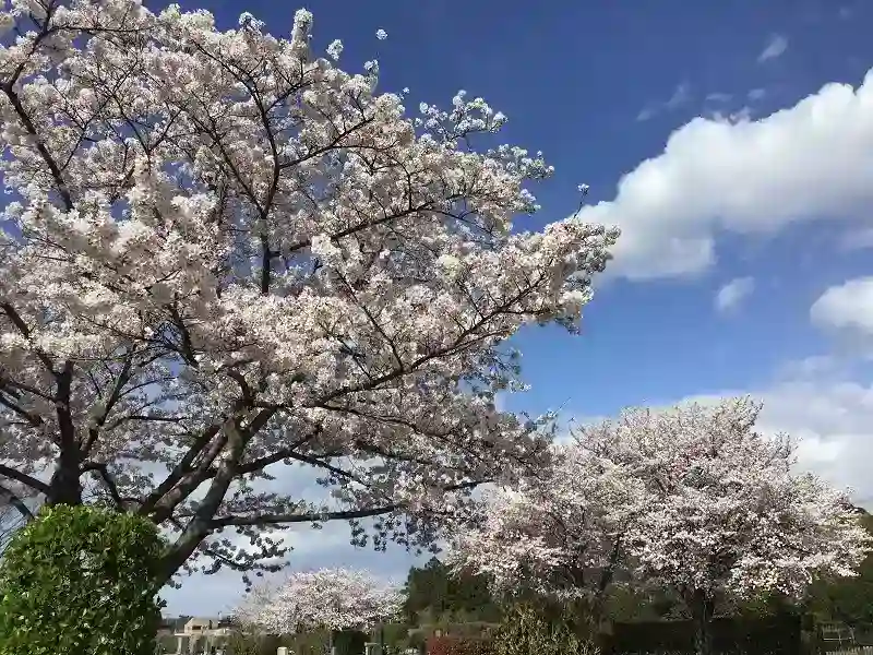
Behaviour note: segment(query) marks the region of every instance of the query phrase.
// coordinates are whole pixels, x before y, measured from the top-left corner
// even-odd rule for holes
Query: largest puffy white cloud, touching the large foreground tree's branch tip
[[[870,219],[872,202],[873,70],[754,121],[695,118],[582,215],[622,228],[608,275],[645,279],[706,270],[720,230]]]

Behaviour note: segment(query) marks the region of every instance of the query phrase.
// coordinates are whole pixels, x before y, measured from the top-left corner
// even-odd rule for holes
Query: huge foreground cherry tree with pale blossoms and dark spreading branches
[[[266,565],[295,523],[424,546],[538,466],[546,424],[494,406],[521,386],[505,341],[575,331],[618,237],[514,229],[552,168],[490,146],[505,116],[459,92],[407,118],[312,24],[0,5],[0,476],[49,504],[96,481],[171,534],[168,580]],[[330,500],[259,487],[283,465]]]

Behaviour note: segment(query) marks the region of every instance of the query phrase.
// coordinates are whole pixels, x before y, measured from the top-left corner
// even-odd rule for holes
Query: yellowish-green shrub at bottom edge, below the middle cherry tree
[[[567,621],[545,617],[533,605],[513,607],[494,631],[494,655],[589,655],[597,648],[581,640]]]

